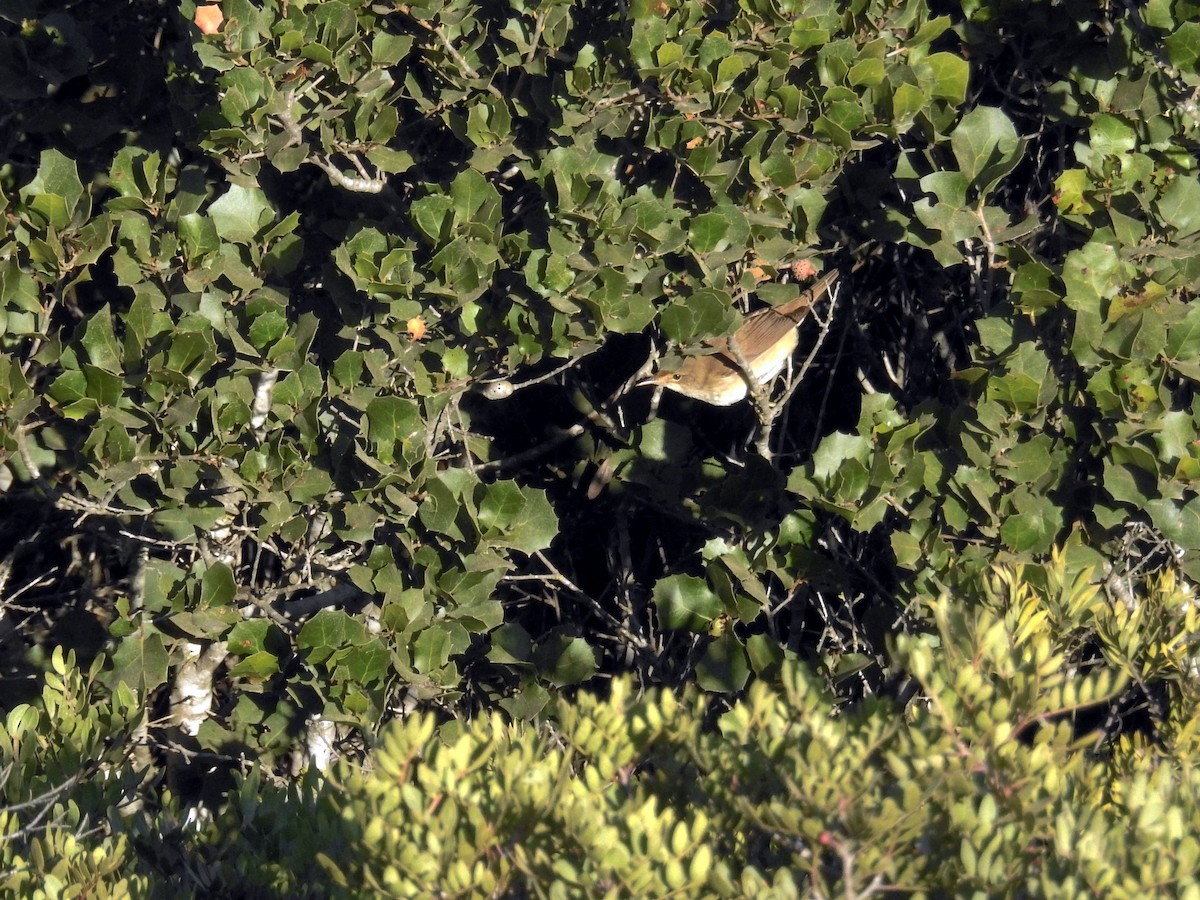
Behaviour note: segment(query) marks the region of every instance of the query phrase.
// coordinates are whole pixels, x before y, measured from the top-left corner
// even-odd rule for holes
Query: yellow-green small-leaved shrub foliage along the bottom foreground
[[[972,596],[932,602],[936,629],[896,641],[919,694],[902,713],[886,700],[839,701],[788,664],[724,708],[695,689],[637,696],[624,678],[605,696],[556,702],[541,724],[491,714],[439,726],[414,714],[383,732],[367,767],[343,763],[292,786],[260,769],[239,778],[233,802],[182,838],[203,862],[179,883],[292,896],[1187,895],[1200,854],[1195,642],[1169,632],[1194,626],[1196,612],[1177,586],[1157,586],[1138,614],[1165,628],[1132,646],[1117,630],[1146,630],[1114,613],[1086,576],[1058,558],[996,570]],[[1093,629],[1099,654],[1073,665],[1075,642]],[[1147,659],[1153,671],[1139,662]],[[58,715],[13,710],[6,760],[32,775],[23,748],[91,730],[112,774],[62,794],[128,791],[134,772],[95,740],[128,722],[130,704],[66,710],[71,691],[96,696],[97,685],[61,655],[54,667],[61,676],[42,702]],[[1171,684],[1159,739],[1108,740],[1092,713],[1151,677]],[[44,774],[61,778],[53,766]],[[55,800],[56,811],[70,808],[42,803]],[[180,814],[167,803],[115,821],[89,877],[116,889],[119,870],[104,859],[132,866],[120,869],[121,886],[152,877],[127,839],[169,828]],[[32,817],[19,805],[6,815],[10,829]],[[73,845],[56,842],[70,820],[53,821],[49,836],[10,830],[6,865],[42,865],[37,853],[83,865]],[[25,877],[10,875],[8,886]]]

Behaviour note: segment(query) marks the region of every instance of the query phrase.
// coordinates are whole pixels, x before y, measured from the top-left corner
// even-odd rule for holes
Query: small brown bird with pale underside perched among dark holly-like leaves
[[[704,346],[712,347],[713,353],[689,356],[673,372],[659,372],[638,382],[637,386],[667,388],[713,406],[733,406],[750,392],[751,377],[758,384],[769,384],[784,370],[800,341],[799,324],[836,280],[838,272],[830,271],[796,300],[746,316],[733,332],[737,353],[730,347],[731,338],[706,341]],[[749,365],[749,372],[738,365],[738,353]]]

